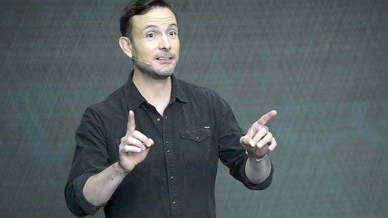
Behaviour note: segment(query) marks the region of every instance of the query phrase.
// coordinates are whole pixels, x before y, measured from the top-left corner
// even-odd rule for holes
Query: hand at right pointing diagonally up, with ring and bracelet
[[[276,148],[276,140],[265,124],[275,117],[277,112],[272,110],[260,117],[249,128],[246,135],[240,138],[240,143],[245,146],[247,151],[256,156],[263,156]]]

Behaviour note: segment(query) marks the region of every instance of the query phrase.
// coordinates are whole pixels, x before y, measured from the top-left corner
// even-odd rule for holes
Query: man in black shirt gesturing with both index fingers
[[[134,60],[125,85],[88,107],[76,132],[66,184],[76,216],[216,217],[218,159],[251,189],[271,183],[268,152],[275,138],[264,124],[242,133],[229,105],[213,90],[173,76],[178,23],[163,0],[137,0],[120,19],[119,45]]]

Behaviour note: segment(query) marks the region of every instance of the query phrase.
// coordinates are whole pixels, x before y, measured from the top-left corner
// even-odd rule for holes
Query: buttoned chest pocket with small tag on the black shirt
[[[180,131],[185,150],[186,168],[201,169],[209,160],[211,130],[209,127],[194,127]]]

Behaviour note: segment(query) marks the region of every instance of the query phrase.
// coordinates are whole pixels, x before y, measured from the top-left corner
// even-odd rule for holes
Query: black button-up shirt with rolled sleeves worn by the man
[[[136,130],[155,144],[104,205],[106,217],[215,218],[219,159],[248,188],[270,185],[273,170],[261,184],[246,177],[248,155],[239,144],[243,132],[230,106],[215,91],[171,76],[171,100],[161,116],[141,96],[132,75],[104,101],[88,107],[77,128],[65,189],[72,213],[93,215],[99,209],[84,199],[82,189],[90,176],[118,161],[129,110],[135,112]]]

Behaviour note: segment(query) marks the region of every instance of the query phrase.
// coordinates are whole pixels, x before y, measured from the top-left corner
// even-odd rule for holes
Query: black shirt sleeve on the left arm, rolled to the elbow
[[[94,215],[95,207],[84,198],[83,188],[90,176],[109,166],[104,131],[98,112],[87,108],[76,130],[76,148],[65,187],[68,209],[77,217]]]

